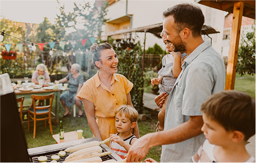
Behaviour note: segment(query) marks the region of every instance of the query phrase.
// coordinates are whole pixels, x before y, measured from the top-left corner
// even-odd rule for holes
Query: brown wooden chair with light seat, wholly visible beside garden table
[[[53,135],[53,129],[52,129],[52,119],[51,119],[51,111],[52,111],[52,104],[53,104],[53,95],[54,93],[51,93],[49,95],[45,96],[39,96],[39,95],[31,95],[31,98],[33,100],[33,108],[28,109],[28,127],[27,130],[29,131],[29,119],[33,119],[34,121],[34,133],[33,138],[35,138],[36,135],[36,121],[45,120],[45,128],[46,128],[46,119],[49,119],[49,125],[50,125],[50,131]],[[50,104],[46,106],[36,106],[36,100],[46,100],[50,99]],[[37,118],[36,116],[45,115],[44,118]],[[47,116],[48,115],[48,116]]]

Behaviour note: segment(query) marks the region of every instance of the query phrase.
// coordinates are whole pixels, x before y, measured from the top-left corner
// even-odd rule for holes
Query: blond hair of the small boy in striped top
[[[136,111],[135,108],[127,104],[120,105],[115,111],[115,116],[117,114],[119,114],[120,116],[122,116],[122,114],[125,114],[125,117],[130,119],[131,123],[136,122],[138,119],[138,111]]]

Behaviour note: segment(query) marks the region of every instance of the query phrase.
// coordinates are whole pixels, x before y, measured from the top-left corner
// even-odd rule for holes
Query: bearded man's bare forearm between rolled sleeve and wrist
[[[202,116],[192,116],[192,119],[190,117],[189,121],[184,122],[173,129],[147,134],[150,135],[148,137],[148,141],[150,142],[149,146],[152,148],[157,145],[183,142],[191,137],[202,134],[202,126]]]

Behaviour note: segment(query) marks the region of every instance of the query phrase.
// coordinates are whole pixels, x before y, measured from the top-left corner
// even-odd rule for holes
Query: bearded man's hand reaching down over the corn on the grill
[[[150,137],[150,134],[146,134],[143,137],[140,137],[135,143],[131,145],[127,155],[125,155],[127,161],[138,162],[143,160],[151,148],[149,146]]]

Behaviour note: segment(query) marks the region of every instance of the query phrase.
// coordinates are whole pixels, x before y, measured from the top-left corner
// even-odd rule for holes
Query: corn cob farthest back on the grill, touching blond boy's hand
[[[69,147],[67,148],[65,151],[66,152],[76,152],[78,150],[83,150],[85,148],[89,148],[89,147],[94,147],[94,146],[99,146],[101,144],[104,144],[104,143],[107,143],[110,141],[110,138],[107,138],[105,139],[104,141],[102,142],[98,142],[98,141],[92,141],[92,142],[89,142],[89,143],[84,143],[84,144],[80,144],[80,145],[76,145],[76,146],[73,146],[73,147]]]

